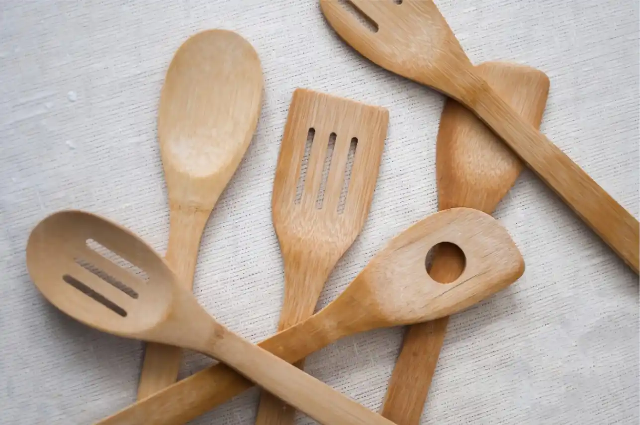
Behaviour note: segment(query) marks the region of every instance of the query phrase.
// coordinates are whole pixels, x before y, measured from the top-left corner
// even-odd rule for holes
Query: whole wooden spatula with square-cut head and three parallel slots
[[[303,89],[293,93],[271,198],[284,261],[278,331],[314,313],[324,282],[362,230],[376,187],[388,116],[387,109],[353,100]],[[303,360],[296,365],[303,367]],[[256,423],[292,424],[294,413],[291,406],[263,392]]]

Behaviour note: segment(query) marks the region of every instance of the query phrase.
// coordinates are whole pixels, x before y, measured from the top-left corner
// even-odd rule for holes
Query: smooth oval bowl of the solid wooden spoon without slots
[[[158,111],[158,139],[173,200],[213,207],[252,139],[262,85],[257,53],[233,31],[203,31],[175,52]],[[199,184],[186,186],[185,180]]]

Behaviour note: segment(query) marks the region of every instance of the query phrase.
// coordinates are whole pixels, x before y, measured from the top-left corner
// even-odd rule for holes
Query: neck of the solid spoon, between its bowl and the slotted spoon
[[[166,261],[182,283],[193,284],[200,239],[211,211],[197,206],[171,204]]]

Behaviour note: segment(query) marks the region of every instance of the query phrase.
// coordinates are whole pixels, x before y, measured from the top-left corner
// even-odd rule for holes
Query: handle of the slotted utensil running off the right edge
[[[467,104],[630,268],[640,268],[640,225],[562,150],[486,83]]]

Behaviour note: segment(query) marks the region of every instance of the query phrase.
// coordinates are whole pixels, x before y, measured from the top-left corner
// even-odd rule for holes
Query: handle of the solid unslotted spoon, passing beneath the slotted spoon
[[[189,289],[193,286],[200,239],[208,218],[209,211],[179,205],[170,207],[166,261]],[[174,383],[180,371],[180,358],[180,348],[149,342],[138,383],[138,400]]]

